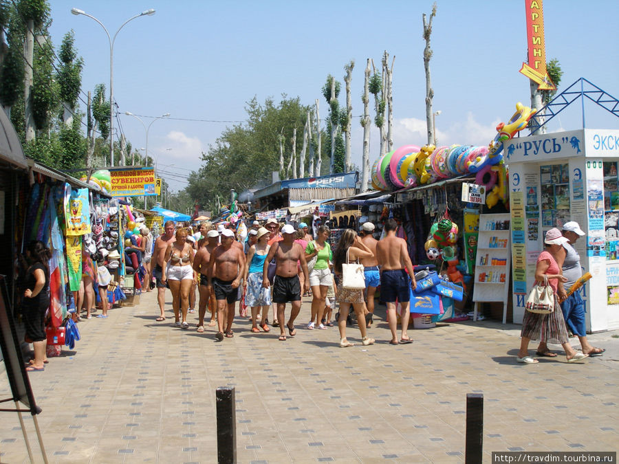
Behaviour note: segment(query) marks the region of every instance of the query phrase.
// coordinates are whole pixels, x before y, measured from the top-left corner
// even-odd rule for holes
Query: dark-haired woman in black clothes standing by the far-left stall
[[[47,263],[50,250],[41,241],[32,241],[26,247],[25,258],[28,270],[25,276],[22,308],[26,338],[34,345],[34,360],[26,368],[28,372],[43,371],[45,359],[45,312],[50,306],[50,269]]]

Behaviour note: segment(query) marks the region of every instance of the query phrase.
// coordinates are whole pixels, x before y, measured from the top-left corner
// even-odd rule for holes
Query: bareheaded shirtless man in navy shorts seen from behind
[[[376,259],[380,266],[380,295],[382,301],[387,304],[387,316],[389,317],[389,329],[391,329],[391,343],[398,344],[398,320],[395,318],[395,300],[402,305],[402,338],[400,343],[412,343],[413,340],[406,335],[409,328],[409,302],[411,294],[409,287],[415,289],[415,273],[413,263],[409,257],[409,250],[404,239],[395,236],[398,223],[395,219],[388,219],[384,223],[384,232],[387,236],[376,244]],[[409,275],[404,272],[404,267]]]

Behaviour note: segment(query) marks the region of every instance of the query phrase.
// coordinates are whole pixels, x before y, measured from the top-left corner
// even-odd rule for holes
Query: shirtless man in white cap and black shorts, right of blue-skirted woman
[[[279,340],[284,342],[286,340],[286,334],[284,331],[284,313],[286,309],[286,303],[292,302],[292,311],[290,311],[290,319],[288,320],[286,327],[288,334],[291,337],[296,335],[296,329],[294,328],[294,320],[301,311],[301,285],[298,282],[298,270],[296,263],[301,262],[301,269],[303,270],[303,276],[305,276],[305,283],[303,284],[303,291],[310,290],[310,276],[307,272],[307,262],[305,261],[305,250],[298,243],[294,243],[296,238],[296,230],[290,224],[283,226],[281,241],[275,242],[271,245],[269,254],[264,260],[263,267],[263,280],[262,286],[269,287],[269,278],[267,270],[270,261],[275,258],[275,278],[273,281],[273,302],[277,305],[277,320],[279,320]]]

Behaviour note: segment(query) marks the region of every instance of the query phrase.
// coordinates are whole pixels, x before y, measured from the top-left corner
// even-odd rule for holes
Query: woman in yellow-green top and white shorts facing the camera
[[[316,264],[310,272],[310,287],[312,287],[312,319],[307,324],[307,329],[327,329],[321,321],[325,312],[325,298],[327,289],[333,283],[329,262],[332,259],[331,246],[327,242],[331,230],[326,225],[321,225],[316,234],[316,240],[307,243],[305,248],[305,261],[310,261],[316,256]],[[318,324],[318,325],[316,325]]]

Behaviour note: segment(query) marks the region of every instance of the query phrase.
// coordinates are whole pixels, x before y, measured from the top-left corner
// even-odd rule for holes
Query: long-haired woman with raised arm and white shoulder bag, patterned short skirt
[[[368,338],[365,326],[365,299],[363,298],[365,278],[363,276],[363,266],[360,264],[356,266],[350,264],[350,261],[358,263],[360,258],[372,258],[373,256],[373,253],[361,241],[357,232],[352,229],[346,229],[343,232],[333,257],[335,272],[340,276],[337,299],[340,303],[338,329],[340,329],[340,347],[342,348],[354,345],[346,338],[346,318],[351,305],[357,315],[362,344],[367,346],[374,343],[373,338]],[[350,275],[348,275],[349,272],[351,273]]]

